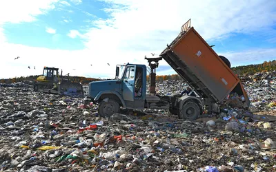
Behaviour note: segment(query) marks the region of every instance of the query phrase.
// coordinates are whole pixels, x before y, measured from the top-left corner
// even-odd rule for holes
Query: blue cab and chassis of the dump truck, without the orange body
[[[146,94],[146,72],[146,65],[130,63],[117,65],[114,80],[89,83],[89,98],[85,98],[85,103],[90,100],[98,103],[98,112],[102,117],[110,117],[118,113],[120,109],[168,109],[171,114],[177,115],[181,114],[180,111],[184,107],[187,111],[191,109],[189,110],[190,114],[193,114],[191,120],[195,120],[202,113],[201,100],[195,96]],[[155,78],[155,75],[153,76]],[[155,84],[153,86],[155,87]],[[183,106],[184,104],[186,106]],[[185,118],[188,119],[188,116]]]

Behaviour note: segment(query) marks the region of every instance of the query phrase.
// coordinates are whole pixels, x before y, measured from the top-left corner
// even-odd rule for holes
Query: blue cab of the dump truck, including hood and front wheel
[[[117,65],[115,80],[89,83],[88,96],[99,103],[99,114],[110,116],[124,109],[144,109],[146,65]]]

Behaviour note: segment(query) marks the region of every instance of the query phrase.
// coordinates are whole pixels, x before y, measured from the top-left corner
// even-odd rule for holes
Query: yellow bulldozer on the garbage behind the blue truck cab
[[[59,68],[44,67],[43,74],[35,80],[34,92],[46,92],[65,96],[83,96],[83,86],[76,77],[59,76]]]

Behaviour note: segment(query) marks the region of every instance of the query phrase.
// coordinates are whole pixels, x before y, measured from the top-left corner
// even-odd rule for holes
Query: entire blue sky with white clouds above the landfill
[[[10,0],[0,2],[0,78],[40,74],[45,65],[113,77],[118,63],[146,65],[144,56],[162,52],[188,19],[233,66],[276,59],[273,0]],[[157,71],[175,74],[165,61]]]

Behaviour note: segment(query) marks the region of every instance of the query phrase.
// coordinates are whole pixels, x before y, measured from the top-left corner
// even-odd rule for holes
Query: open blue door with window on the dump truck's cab
[[[122,85],[124,100],[134,101],[135,68],[135,65],[128,65],[126,67]]]

